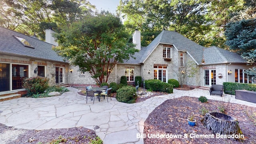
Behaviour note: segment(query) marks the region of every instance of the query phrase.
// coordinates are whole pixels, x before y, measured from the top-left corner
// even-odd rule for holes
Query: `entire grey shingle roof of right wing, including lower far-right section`
[[[136,53],[134,56],[136,60],[131,58],[124,63],[127,64],[140,64],[143,63],[146,58],[154,51],[158,44],[172,44],[179,51],[188,52],[192,58],[201,64],[204,58],[204,64],[220,64],[220,63],[246,63],[246,60],[242,59],[240,55],[212,46],[210,48],[205,48],[196,44],[192,40],[182,36],[178,32],[163,30],[147,47],[142,47],[140,52]]]

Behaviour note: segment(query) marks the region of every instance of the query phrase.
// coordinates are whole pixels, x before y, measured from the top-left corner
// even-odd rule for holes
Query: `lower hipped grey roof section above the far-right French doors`
[[[205,64],[247,63],[239,54],[212,46],[204,49]]]

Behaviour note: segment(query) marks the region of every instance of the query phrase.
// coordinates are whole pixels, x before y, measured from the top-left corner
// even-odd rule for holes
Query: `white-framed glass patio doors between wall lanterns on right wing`
[[[204,70],[204,86],[216,84],[216,70]]]

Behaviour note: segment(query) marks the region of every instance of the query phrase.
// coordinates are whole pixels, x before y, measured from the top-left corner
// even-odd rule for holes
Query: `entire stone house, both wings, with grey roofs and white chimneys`
[[[46,76],[50,85],[70,84],[85,86],[96,84],[88,72],[81,72],[52,50],[56,46],[52,31],[46,30],[43,42],[33,36],[0,27],[0,93],[22,90],[24,77]],[[163,30],[147,47],[140,46],[140,31],[133,34],[137,52],[134,58],[118,63],[112,70],[108,83],[120,83],[127,76],[129,84],[135,84],[135,76],[143,80],[178,80],[176,72],[189,66],[198,71],[186,77],[184,84],[206,86],[223,82],[252,83],[244,70],[252,68],[238,54],[212,46],[206,48],[177,32]],[[24,89],[23,89],[24,90]]]

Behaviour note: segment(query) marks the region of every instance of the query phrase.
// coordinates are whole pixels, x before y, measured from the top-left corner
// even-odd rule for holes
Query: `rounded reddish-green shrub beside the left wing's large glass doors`
[[[22,87],[27,90],[27,96],[42,94],[49,87],[49,78],[36,76],[24,78]]]

